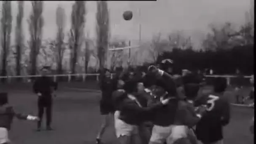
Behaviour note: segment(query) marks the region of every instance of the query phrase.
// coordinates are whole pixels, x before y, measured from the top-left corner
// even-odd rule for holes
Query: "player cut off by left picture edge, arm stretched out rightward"
[[[13,117],[20,120],[39,120],[32,115],[16,113],[13,107],[8,103],[8,93],[0,93],[0,144],[9,144],[8,131],[11,129]]]

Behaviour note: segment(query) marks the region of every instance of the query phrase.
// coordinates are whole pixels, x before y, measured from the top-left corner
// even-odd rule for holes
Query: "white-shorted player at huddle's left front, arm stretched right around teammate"
[[[115,99],[115,129],[118,141],[121,144],[140,144],[138,126],[147,120],[154,109],[168,104],[169,99],[163,99],[152,107],[142,107],[139,100],[132,93],[137,91],[137,81],[125,82],[125,93]]]

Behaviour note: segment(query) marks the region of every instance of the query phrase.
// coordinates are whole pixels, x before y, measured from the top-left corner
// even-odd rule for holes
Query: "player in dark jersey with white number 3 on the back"
[[[206,105],[202,119],[196,125],[196,136],[203,144],[222,144],[223,127],[230,120],[230,106],[223,94],[227,88],[227,80],[224,77],[217,77],[213,83],[214,92],[202,96],[197,100],[196,105]]]

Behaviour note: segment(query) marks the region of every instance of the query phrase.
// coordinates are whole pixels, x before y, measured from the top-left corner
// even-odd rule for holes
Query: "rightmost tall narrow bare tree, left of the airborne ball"
[[[107,1],[97,1],[96,21],[99,68],[102,69],[107,59],[109,42],[109,11]]]

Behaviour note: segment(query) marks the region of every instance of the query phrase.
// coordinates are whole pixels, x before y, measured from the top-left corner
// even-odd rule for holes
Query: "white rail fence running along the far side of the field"
[[[112,74],[112,75],[114,75],[114,74]],[[57,77],[67,77],[68,78],[68,80],[67,80],[68,82],[72,81],[72,79],[71,79],[72,76],[82,77],[83,82],[86,81],[86,77],[88,77],[88,76],[96,76],[96,80],[99,81],[99,74],[85,74],[85,73],[83,73],[83,74],[49,75],[49,76],[53,77],[54,81],[57,80]],[[40,75],[5,76],[5,77],[1,77],[0,76],[0,79],[6,78],[7,82],[11,83],[11,79],[12,78],[22,78],[24,82],[30,82],[30,78],[31,77],[40,77]],[[227,78],[227,84],[230,85],[230,79],[232,77],[236,77],[236,76],[234,76],[234,75],[205,75],[205,77],[226,77]],[[244,76],[244,77],[245,78],[252,78],[253,76]]]

